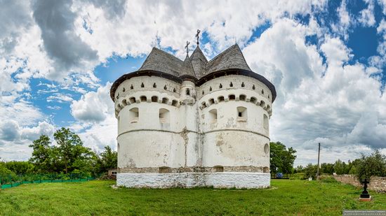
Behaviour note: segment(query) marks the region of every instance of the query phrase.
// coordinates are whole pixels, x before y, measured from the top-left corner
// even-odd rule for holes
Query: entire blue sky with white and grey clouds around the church
[[[1,2],[1,1],[0,1]],[[153,46],[211,59],[237,42],[251,69],[277,87],[272,141],[296,164],[386,152],[386,2],[1,2],[0,157],[28,159],[39,134],[70,127],[85,145],[115,147],[109,87]],[[48,22],[49,21],[49,22]]]

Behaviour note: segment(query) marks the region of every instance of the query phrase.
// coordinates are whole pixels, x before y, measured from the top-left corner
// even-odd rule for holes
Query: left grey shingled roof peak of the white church
[[[145,62],[138,71],[161,71],[171,75],[179,76],[182,67],[181,59],[158,48],[153,48]]]

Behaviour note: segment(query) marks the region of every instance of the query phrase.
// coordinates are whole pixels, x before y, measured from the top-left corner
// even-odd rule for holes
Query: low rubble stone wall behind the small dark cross
[[[356,175],[333,175],[338,182],[362,187]],[[386,192],[386,177],[372,176],[368,189],[376,192]]]

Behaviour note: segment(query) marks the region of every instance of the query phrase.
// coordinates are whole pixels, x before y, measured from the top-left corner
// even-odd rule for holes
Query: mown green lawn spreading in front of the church
[[[0,215],[342,215],[386,210],[386,195],[337,182],[272,180],[272,189],[112,189],[114,181],[20,185],[0,192]]]

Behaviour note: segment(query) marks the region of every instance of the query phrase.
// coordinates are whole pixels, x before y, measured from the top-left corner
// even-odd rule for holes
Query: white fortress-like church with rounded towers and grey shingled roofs
[[[235,44],[208,61],[153,48],[110,95],[118,120],[117,185],[269,187],[274,85]]]

